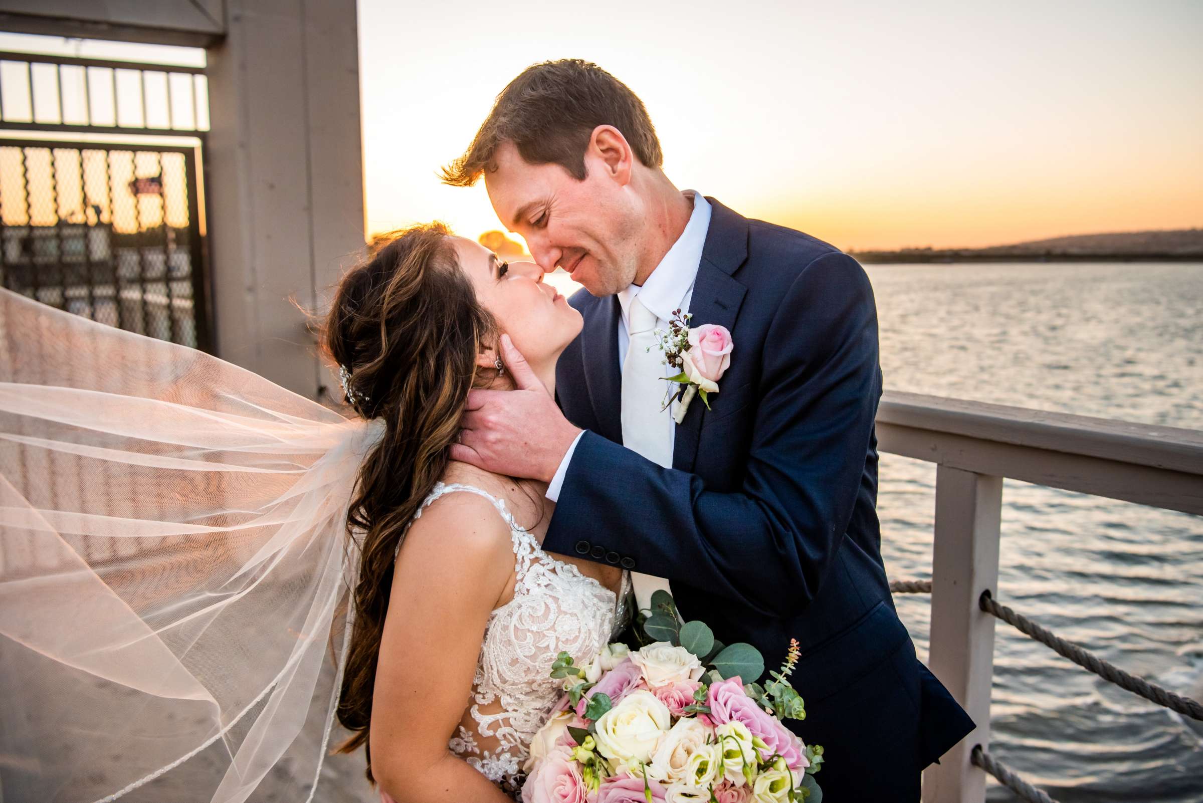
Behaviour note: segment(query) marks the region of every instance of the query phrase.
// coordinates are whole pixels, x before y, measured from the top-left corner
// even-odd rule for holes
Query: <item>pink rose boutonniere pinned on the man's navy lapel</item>
[[[672,418],[681,423],[693,397],[700,395],[703,404],[710,410],[710,394],[718,393],[718,380],[731,364],[731,333],[725,326],[704,323],[689,326],[693,315],[672,310],[669,331],[656,331],[658,349],[664,352],[664,362],[669,369],[677,368],[680,373],[664,379],[672,382],[660,411],[672,406]]]

